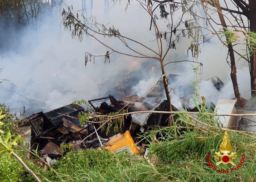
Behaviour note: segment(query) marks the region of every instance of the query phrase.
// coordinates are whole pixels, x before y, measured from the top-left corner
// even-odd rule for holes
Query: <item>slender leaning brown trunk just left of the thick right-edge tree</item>
[[[224,29],[224,31],[226,31],[227,25],[224,19],[224,16],[222,14],[222,10],[221,10],[221,6],[218,0],[214,0],[213,4],[215,5],[215,7],[218,10],[218,15],[220,18],[220,22],[221,25]],[[226,37],[227,42],[229,42],[229,39]],[[233,46],[232,44],[228,44],[228,52],[229,52],[229,57],[230,57],[230,63],[231,63],[231,73],[230,73],[230,77],[232,80],[232,84],[233,84],[233,89],[234,89],[234,93],[235,93],[235,97],[237,98],[238,104],[241,108],[243,108],[243,103],[241,101],[241,96],[240,96],[240,92],[239,92],[239,88],[238,88],[238,83],[237,83],[237,77],[236,77],[236,61],[235,61],[235,55],[234,55],[234,50],[233,50]]]

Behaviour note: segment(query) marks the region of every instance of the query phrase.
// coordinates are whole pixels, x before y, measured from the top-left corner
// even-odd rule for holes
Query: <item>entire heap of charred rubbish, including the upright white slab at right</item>
[[[176,75],[169,75],[170,80],[176,77]],[[223,86],[223,82],[219,78],[212,82],[216,89],[221,89]],[[190,90],[191,87],[188,85],[175,87],[176,92],[180,89],[187,90],[186,94],[188,95],[184,96],[183,94],[180,96],[179,105],[181,107],[172,105],[173,111],[186,109],[191,112],[197,112],[196,107],[190,106],[194,91]],[[118,100],[111,95],[89,100],[89,111],[78,104],[69,104],[49,112],[32,114],[21,121],[19,133],[26,140],[27,149],[37,149],[41,157],[49,165],[53,165],[56,160],[65,154],[66,150],[63,150],[65,147],[73,151],[103,147],[112,152],[127,151],[131,155],[135,153],[145,155],[147,149],[143,144],[135,145],[135,142],[137,142],[136,137],[138,134],[147,131],[149,127],[168,126],[168,114],[142,113],[128,115],[124,119],[124,125],[116,133],[114,127],[110,128],[108,132],[101,130],[101,125],[93,122],[95,121],[94,117],[90,117],[88,122],[80,126],[79,113],[91,112],[94,115],[107,115],[122,109],[127,109],[128,112],[167,111],[168,104],[166,100],[162,100],[157,104],[146,102],[147,99],[154,100],[152,98],[159,96],[158,91],[162,91],[161,86],[156,87],[146,98],[139,98],[137,94],[133,94],[123,96]],[[213,103],[208,105],[210,109],[215,109],[218,114],[235,114],[237,112],[235,103],[236,100],[220,99],[216,106]],[[237,117],[223,116],[218,120],[223,127],[228,127],[232,130],[237,129]],[[29,152],[27,157],[31,157]]]

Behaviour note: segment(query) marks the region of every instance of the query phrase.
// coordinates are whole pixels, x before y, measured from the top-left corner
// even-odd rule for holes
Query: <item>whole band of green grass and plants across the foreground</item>
[[[233,162],[239,164],[242,154],[246,158],[241,168],[222,174],[207,166],[208,154],[214,164],[218,161],[214,158],[214,152],[219,150],[225,132],[213,114],[202,107],[196,119],[185,111],[177,117],[185,123],[177,125],[178,136],[174,135],[174,127],[154,128],[141,136],[148,143],[150,156],[156,155],[158,158],[154,164],[140,156],[93,149],[68,152],[53,166],[54,170],[45,171],[31,161],[25,161],[42,181],[256,180],[256,138],[252,133],[228,130],[233,151],[237,152]],[[160,143],[154,142],[155,136]],[[22,156],[21,153],[19,155]],[[12,157],[2,157],[0,160],[0,181],[34,181]],[[220,164],[217,169],[231,167],[231,164]]]

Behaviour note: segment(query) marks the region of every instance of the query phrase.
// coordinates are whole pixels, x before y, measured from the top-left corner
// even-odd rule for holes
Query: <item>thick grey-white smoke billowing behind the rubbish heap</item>
[[[90,4],[90,1],[86,2],[87,5]],[[149,42],[155,39],[154,32],[149,32],[150,18],[136,1],[131,2],[127,11],[124,10],[126,6],[124,2],[116,3],[109,13],[105,13],[103,2],[94,1],[91,12],[98,22],[113,24],[127,37],[132,37],[149,47],[156,48],[154,42]],[[81,1],[69,0],[66,3],[73,4],[74,10],[82,9]],[[89,9],[88,7],[87,9]],[[87,13],[89,15],[90,11],[88,10]],[[178,20],[179,16],[176,14],[174,19]],[[129,73],[141,68],[143,60],[118,54],[111,55],[110,63],[104,65],[103,58],[97,58],[95,64],[88,63],[84,68],[85,52],[103,55],[107,49],[92,38],[84,37],[82,43],[77,39],[72,39],[70,33],[64,31],[61,20],[61,12],[56,12],[53,17],[45,18],[40,29],[36,31],[25,29],[21,33],[22,38],[18,49],[10,49],[1,53],[0,67],[5,66],[5,68],[0,76],[3,79],[11,80],[11,82],[0,84],[0,103],[10,106],[13,112],[26,106],[28,112],[32,114],[67,105],[73,100],[102,97],[106,90],[120,79],[120,73],[123,71]],[[165,28],[166,22],[159,21],[159,25],[161,28]],[[114,40],[102,39],[102,41],[124,50],[124,47]],[[180,41],[176,45],[176,50],[170,50],[166,62],[192,60],[191,56],[187,57],[190,41],[187,38]],[[145,49],[137,45],[134,48],[145,52]],[[210,81],[202,81],[201,89],[205,91],[203,96],[214,103],[219,98],[234,97],[226,56],[227,49],[222,47],[217,39],[212,39],[211,42],[201,47],[201,54],[198,57],[198,62],[202,62],[204,65],[203,80],[218,76],[225,83],[222,92],[218,93]],[[137,64],[134,66],[136,61]],[[250,88],[248,69],[244,68],[242,61],[238,62],[238,68],[241,95],[249,98],[249,92],[246,92]],[[184,80],[180,80],[179,84],[190,83],[190,80],[194,79],[191,63],[169,64],[166,66],[166,72],[184,75]],[[134,83],[134,91],[138,95],[142,96],[147,93],[162,76],[159,67],[155,67],[154,74],[150,74],[148,76],[148,73],[144,71],[141,80]],[[113,76],[115,79],[112,79]],[[109,78],[112,80],[109,81]],[[104,85],[106,81],[108,84]],[[177,97],[173,96],[176,102],[175,98]]]

